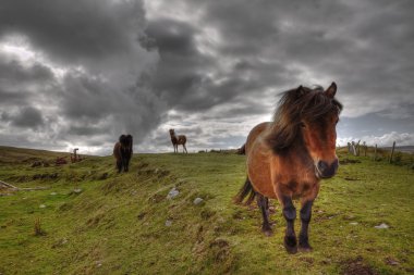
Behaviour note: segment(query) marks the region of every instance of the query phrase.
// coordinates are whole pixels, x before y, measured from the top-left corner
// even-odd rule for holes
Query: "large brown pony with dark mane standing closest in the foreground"
[[[292,199],[301,199],[299,249],[310,251],[307,229],[312,204],[320,179],[332,177],[338,168],[336,125],[342,104],[334,99],[336,92],[334,83],[325,91],[302,86],[285,91],[273,122],[257,125],[247,137],[247,178],[235,202],[248,196],[248,204],[256,197],[261,230],[270,236],[268,199],[278,199],[287,220],[284,247],[289,253],[297,252]]]

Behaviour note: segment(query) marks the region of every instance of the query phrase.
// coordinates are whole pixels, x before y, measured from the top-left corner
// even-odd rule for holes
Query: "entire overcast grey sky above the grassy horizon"
[[[414,1],[1,0],[0,145],[238,148],[280,92],[338,85],[338,142],[414,145]]]

